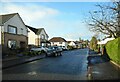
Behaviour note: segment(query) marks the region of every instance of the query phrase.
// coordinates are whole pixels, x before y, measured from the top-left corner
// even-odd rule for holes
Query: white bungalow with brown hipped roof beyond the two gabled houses
[[[51,46],[64,46],[67,49],[67,41],[62,37],[53,37],[49,41]]]

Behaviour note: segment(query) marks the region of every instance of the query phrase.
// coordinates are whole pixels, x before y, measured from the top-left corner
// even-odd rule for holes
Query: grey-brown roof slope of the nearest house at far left
[[[0,25],[3,25],[5,22],[7,22],[9,19],[11,19],[16,14],[18,13],[0,15]]]

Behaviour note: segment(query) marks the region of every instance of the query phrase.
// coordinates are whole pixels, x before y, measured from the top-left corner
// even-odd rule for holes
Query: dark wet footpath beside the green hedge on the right
[[[120,82],[120,68],[111,62],[107,54],[101,55],[89,50],[87,60],[89,80],[116,80]]]

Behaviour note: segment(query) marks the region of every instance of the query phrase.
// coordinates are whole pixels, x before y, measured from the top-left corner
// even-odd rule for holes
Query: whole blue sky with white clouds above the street
[[[96,4],[107,2],[2,2],[1,14],[19,13],[26,25],[44,28],[49,36],[90,40],[95,34],[85,23]]]

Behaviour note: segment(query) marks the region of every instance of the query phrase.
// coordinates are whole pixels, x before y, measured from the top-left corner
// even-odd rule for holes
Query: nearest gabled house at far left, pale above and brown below
[[[28,30],[18,13],[0,15],[1,44],[3,52],[10,49],[25,49],[28,45]]]

